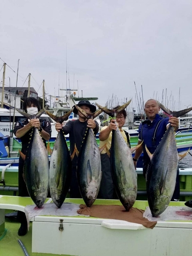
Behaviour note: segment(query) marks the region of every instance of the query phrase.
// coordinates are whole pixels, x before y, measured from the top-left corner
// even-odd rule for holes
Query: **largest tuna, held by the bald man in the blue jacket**
[[[165,113],[175,117],[184,115],[192,110],[190,108],[172,112],[161,103],[159,103],[159,106]],[[186,156],[188,152],[178,156],[174,127],[171,125],[168,126],[154,154],[150,154],[147,148],[146,151],[151,159],[151,164],[146,174],[147,200],[152,216],[157,217],[162,214],[172,199],[176,185],[178,161]]]

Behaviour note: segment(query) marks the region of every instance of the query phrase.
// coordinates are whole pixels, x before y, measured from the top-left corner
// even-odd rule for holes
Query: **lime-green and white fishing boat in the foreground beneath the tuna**
[[[45,208],[52,203],[46,200]],[[48,205],[46,205],[48,204]],[[67,198],[63,210],[71,205],[79,208],[82,199]],[[134,223],[113,219],[112,210],[121,209],[119,200],[99,200],[94,203],[98,209],[111,209],[109,219],[89,216],[69,216],[67,214],[36,213],[30,218],[30,227],[26,236],[17,234],[20,223],[14,218],[6,218],[13,210],[25,211],[26,206],[33,205],[31,198],[17,196],[0,196],[0,244],[2,255],[81,255],[81,256],[116,256],[127,255],[127,251],[134,255],[190,255],[192,245],[192,222],[186,220],[161,220],[155,227],[147,228],[144,223]],[[144,211],[148,203],[146,200],[136,200],[134,208]],[[170,207],[178,207],[180,212],[187,208],[187,213],[192,214],[192,209],[184,205],[183,201],[170,202]],[[27,208],[27,207],[26,207]],[[33,207],[32,207],[33,208]],[[90,208],[91,210],[91,208]],[[124,212],[126,214],[126,212]],[[142,218],[143,220],[143,218]],[[19,242],[19,243],[18,243]],[[74,246],[75,245],[75,246]],[[13,252],[14,251],[14,252]],[[24,254],[23,254],[24,253]]]

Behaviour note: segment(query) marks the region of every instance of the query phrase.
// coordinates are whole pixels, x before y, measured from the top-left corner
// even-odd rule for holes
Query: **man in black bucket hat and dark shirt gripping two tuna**
[[[87,113],[94,113],[96,111],[96,106],[92,105],[89,100],[80,100],[76,104],[82,110]],[[75,107],[73,106],[73,113],[79,115],[79,119],[75,121],[68,121],[65,126],[62,126],[60,123],[55,124],[55,129],[59,132],[60,129],[63,130],[64,134],[69,134],[70,139],[70,154],[72,155],[75,146],[78,151],[80,151],[81,143],[86,133],[87,127],[93,129],[94,134],[96,135],[99,131],[99,124],[93,119],[87,119],[84,117]],[[72,160],[72,179],[70,185],[70,197],[71,198],[81,198],[79,186],[76,177],[76,167],[77,167],[77,156],[75,154]]]

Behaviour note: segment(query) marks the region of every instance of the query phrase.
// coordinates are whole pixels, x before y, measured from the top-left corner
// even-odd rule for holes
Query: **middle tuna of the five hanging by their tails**
[[[95,113],[87,113],[76,108],[86,118],[94,119],[101,110]],[[93,133],[93,129],[87,128],[77,159],[77,180],[81,196],[88,207],[96,200],[101,183],[101,158],[100,151]]]

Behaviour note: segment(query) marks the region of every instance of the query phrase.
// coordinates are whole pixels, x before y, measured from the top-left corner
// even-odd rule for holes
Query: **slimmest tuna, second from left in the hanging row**
[[[46,111],[46,113],[56,122],[66,121],[73,110],[56,117]],[[71,181],[71,157],[66,143],[66,138],[62,130],[57,135],[50,159],[49,169],[49,188],[50,194],[55,205],[60,208],[66,199]]]

